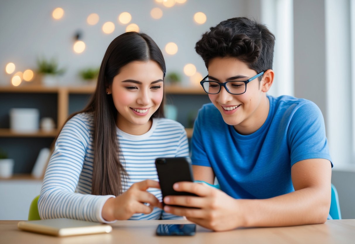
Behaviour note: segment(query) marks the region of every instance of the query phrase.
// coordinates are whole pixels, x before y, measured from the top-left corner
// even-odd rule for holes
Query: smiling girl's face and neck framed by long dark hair
[[[134,61],[120,69],[107,91],[118,111],[116,125],[122,131],[141,135],[163,100],[163,71],[155,61]]]

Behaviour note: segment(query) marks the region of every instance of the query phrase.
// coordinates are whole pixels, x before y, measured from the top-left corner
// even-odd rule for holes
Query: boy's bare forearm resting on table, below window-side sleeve
[[[329,194],[328,194],[329,193]],[[262,200],[236,200],[244,214],[245,227],[295,226],[324,223],[330,206],[329,192],[306,187]]]

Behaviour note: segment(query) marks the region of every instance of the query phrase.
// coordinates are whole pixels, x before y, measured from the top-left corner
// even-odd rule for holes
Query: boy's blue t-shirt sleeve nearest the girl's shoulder
[[[204,121],[203,120],[204,114],[205,111],[203,108],[201,108],[201,110],[198,112],[197,118],[193,125],[193,134],[191,140],[191,149],[192,149],[191,160],[193,165],[211,167],[211,163],[208,160],[206,149],[204,147],[204,143],[206,142],[203,142],[202,131],[201,131],[202,122]],[[205,133],[208,133],[208,131],[206,131]]]

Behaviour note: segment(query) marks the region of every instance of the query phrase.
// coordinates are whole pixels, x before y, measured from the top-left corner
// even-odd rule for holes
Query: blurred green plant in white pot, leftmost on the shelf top
[[[65,72],[64,68],[58,68],[58,63],[55,58],[51,58],[50,60],[38,58],[37,66],[37,72],[42,75],[42,84],[45,86],[58,85],[57,75],[62,75]]]

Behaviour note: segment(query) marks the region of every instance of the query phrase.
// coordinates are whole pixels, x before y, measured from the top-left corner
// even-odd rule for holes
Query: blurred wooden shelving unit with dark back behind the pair
[[[81,110],[87,104],[94,90],[94,86],[0,86],[0,148],[15,159],[14,178],[22,175],[32,179],[29,174],[39,150],[50,147],[59,132],[58,128],[61,128],[71,113]],[[185,126],[187,136],[191,138],[194,116],[203,104],[209,102],[207,94],[201,87],[180,86],[165,86],[164,92],[165,104],[174,104],[178,108],[177,121]],[[9,125],[9,110],[12,107],[38,108],[40,118],[52,117],[56,129],[50,132],[13,132]]]

